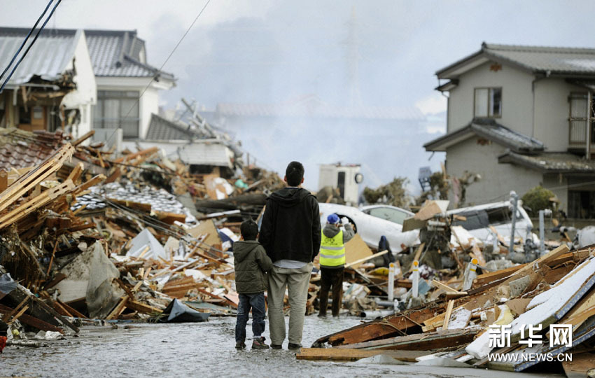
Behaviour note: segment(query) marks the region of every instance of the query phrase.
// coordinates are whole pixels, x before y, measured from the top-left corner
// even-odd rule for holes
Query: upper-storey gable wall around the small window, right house
[[[492,71],[491,64],[481,64],[463,73],[458,86],[450,91],[447,132],[464,127],[472,120],[475,88],[502,87],[502,117],[496,118],[496,121],[512,130],[531,135],[533,75],[504,64],[499,71]]]

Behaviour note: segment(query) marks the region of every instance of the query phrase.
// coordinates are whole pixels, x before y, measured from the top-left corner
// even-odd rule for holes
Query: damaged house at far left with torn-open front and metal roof
[[[2,69],[28,31],[0,28]],[[76,138],[91,130],[91,107],[96,98],[85,33],[46,30],[0,94],[0,127],[49,132],[62,128]]]

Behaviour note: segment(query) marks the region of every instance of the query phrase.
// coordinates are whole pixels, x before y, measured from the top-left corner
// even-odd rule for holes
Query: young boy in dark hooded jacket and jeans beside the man
[[[267,349],[265,344],[265,290],[267,290],[267,276],[273,262],[267,256],[256,237],[258,225],[252,220],[241,223],[239,230],[241,240],[234,243],[235,287],[239,294],[237,305],[237,321],[235,324],[235,347],[246,348],[246,323],[248,312],[252,308],[252,332],[254,338],[252,349]]]

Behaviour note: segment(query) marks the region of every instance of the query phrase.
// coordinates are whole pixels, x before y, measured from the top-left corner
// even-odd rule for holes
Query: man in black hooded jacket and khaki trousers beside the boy
[[[283,297],[289,295],[289,349],[300,349],[312,261],[321,241],[320,210],[316,197],[301,188],[304,166],[290,162],[283,179],[287,186],[272,193],[262,216],[258,241],[273,261],[269,274],[269,330],[271,347],[281,349],[286,328]]]

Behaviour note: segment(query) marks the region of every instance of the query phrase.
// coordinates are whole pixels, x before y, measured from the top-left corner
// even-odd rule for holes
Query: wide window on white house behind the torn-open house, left
[[[93,109],[93,127],[121,128],[123,137],[139,137],[139,92],[98,90],[97,105]]]

